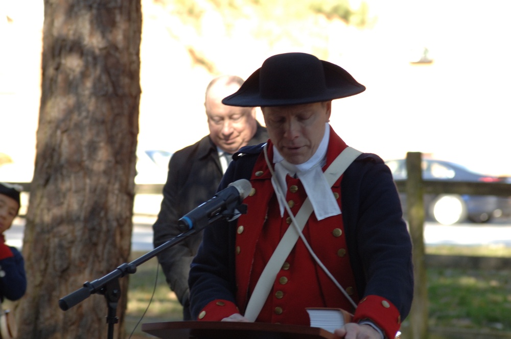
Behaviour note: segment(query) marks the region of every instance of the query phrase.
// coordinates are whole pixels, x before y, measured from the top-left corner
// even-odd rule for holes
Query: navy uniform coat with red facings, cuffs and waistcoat
[[[345,147],[345,143],[331,131],[327,164],[324,168],[328,167]],[[271,143],[268,150],[271,159]],[[200,308],[196,308],[196,316],[199,320],[218,321],[233,313],[244,313],[250,294],[264,265],[288,227],[287,213],[284,217],[280,217],[280,210],[270,182],[271,175],[263,154],[259,154],[259,158],[254,165],[248,167],[250,167],[248,178],[253,187],[253,193],[244,200],[244,203],[248,205],[248,213],[241,216],[235,225],[231,225],[229,231],[227,231],[228,225],[222,225],[221,223],[212,225],[209,229],[206,228],[206,232],[211,230],[211,238],[204,238],[199,254],[192,264],[190,279],[192,303],[195,294],[197,305],[201,305]],[[235,172],[233,178],[240,179],[240,177],[243,177],[240,175],[242,172],[246,176],[246,171],[233,169]],[[372,168],[369,169],[372,170]],[[382,167],[379,168],[380,170],[389,172],[388,168]],[[361,173],[366,171],[368,169],[364,168]],[[350,174],[349,176],[350,179],[353,178],[353,175]],[[388,229],[387,232],[391,230],[396,232],[399,229],[399,233],[396,233],[396,235],[399,235],[398,240],[404,240],[404,244],[400,244],[399,249],[396,248],[394,251],[391,249],[394,244],[388,244],[388,239],[381,240],[387,241],[387,244],[377,244],[379,240],[375,242],[375,239],[370,238],[370,234],[373,234],[373,232],[365,233],[362,230],[357,230],[357,226],[368,222],[369,225],[378,224],[378,232],[383,231],[385,233],[385,230],[380,229],[381,221],[373,223],[369,216],[375,214],[379,218],[378,214],[386,214],[387,212],[378,209],[368,214],[364,212],[367,215],[362,213],[364,214],[362,216],[359,212],[352,213],[355,208],[351,206],[355,206],[354,204],[366,208],[364,203],[360,202],[360,199],[363,198],[359,197],[361,192],[355,192],[351,188],[354,182],[343,183],[343,179],[344,176],[337,180],[332,187],[334,197],[337,199],[343,214],[328,217],[318,222],[314,213],[312,213],[304,229],[304,235],[319,259],[346,291],[352,295],[355,302],[359,303],[357,309],[352,309],[351,304],[347,302],[340,290],[313,262],[301,239],[298,239],[295,248],[286,260],[286,264],[278,273],[270,296],[266,300],[257,321],[308,325],[309,319],[305,307],[341,307],[354,311],[355,322],[365,319],[373,321],[382,328],[387,337],[393,337],[399,329],[401,323],[400,313],[406,316],[409,310],[413,281],[411,244],[406,225],[401,220],[400,204],[399,200],[396,200],[398,199],[396,188],[393,186],[390,177],[392,187],[389,188],[389,183],[386,182],[384,190],[388,191],[390,189],[391,194],[387,199],[392,201],[392,219],[397,217],[396,220],[391,220],[391,223],[397,225],[394,229]],[[291,210],[296,213],[306,198],[305,190],[298,179],[288,177],[287,180],[289,188],[286,192],[286,200],[291,205],[294,204]],[[360,179],[356,181],[358,182]],[[293,185],[296,187],[292,187]],[[374,189],[378,194],[378,187],[374,186]],[[349,193],[344,190],[348,190]],[[346,204],[343,204],[341,199],[346,199],[345,197],[349,197],[349,200],[345,202]],[[370,199],[365,200],[369,201]],[[376,201],[387,203],[381,197],[378,197]],[[369,207],[370,205],[374,204],[370,203]],[[399,211],[395,208],[398,208]],[[364,220],[358,221],[360,218]],[[350,226],[348,229],[344,226],[346,220]],[[224,227],[226,228],[224,229]],[[234,239],[226,239],[229,236],[223,233],[224,231],[234,233]],[[358,239],[359,235],[356,233],[363,234],[364,238]],[[347,238],[347,236],[350,236],[350,238]],[[220,254],[216,251],[221,247],[221,243],[224,243],[227,252],[221,251],[224,256],[215,257]],[[371,243],[374,246],[370,246]],[[210,247],[213,244],[215,245]],[[376,253],[382,249],[381,246],[388,248],[388,258],[385,258],[385,254]],[[213,248],[216,250],[212,251]],[[361,253],[361,249],[368,249],[367,253],[365,251]],[[352,253],[352,251],[355,251],[355,253]],[[351,258],[352,254],[354,254],[353,258]],[[369,258],[375,263],[369,264]],[[385,261],[389,262],[386,263]],[[397,263],[396,261],[400,262]],[[363,267],[366,262],[367,268]],[[223,263],[226,264],[225,270],[222,267]],[[227,267],[235,268],[235,272],[231,272],[233,270],[227,269]],[[382,272],[378,272],[380,270]],[[383,271],[388,271],[388,273]],[[372,275],[375,276],[374,279],[371,277]],[[395,281],[389,285],[389,281],[394,280],[395,276],[398,276],[400,284],[401,281],[404,282],[405,293],[399,291],[401,287],[396,285]],[[381,277],[385,279],[382,280]],[[381,286],[378,284],[378,280],[381,281]],[[367,282],[370,283],[366,286]],[[194,288],[196,288],[195,291]],[[380,289],[382,293],[377,294]],[[395,293],[391,292],[396,289],[398,291]],[[227,291],[231,292],[224,293]],[[374,292],[374,294],[371,292]],[[394,297],[392,294],[397,294],[399,297]],[[359,295],[363,298],[361,301]],[[392,299],[389,297],[392,297]],[[402,309],[401,312],[391,300],[399,303],[398,307]],[[194,308],[194,305],[192,305],[192,308]]]

